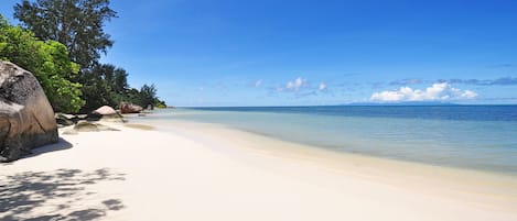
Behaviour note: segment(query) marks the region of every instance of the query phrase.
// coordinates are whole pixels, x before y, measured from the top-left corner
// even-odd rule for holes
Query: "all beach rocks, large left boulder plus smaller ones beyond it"
[[[141,107],[126,104],[123,110]],[[23,68],[0,60],[0,162],[12,162],[32,148],[58,141],[57,126],[71,126],[65,133],[114,131],[91,121],[125,122],[111,107],[100,107],[90,114],[54,114],[37,79]]]

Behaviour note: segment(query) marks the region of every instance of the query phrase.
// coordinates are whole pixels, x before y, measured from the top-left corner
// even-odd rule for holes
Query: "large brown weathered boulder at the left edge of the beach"
[[[37,79],[0,60],[0,162],[11,162],[37,146],[57,142],[57,124]]]

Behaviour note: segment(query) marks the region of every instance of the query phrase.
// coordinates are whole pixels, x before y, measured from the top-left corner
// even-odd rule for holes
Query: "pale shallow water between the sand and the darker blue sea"
[[[515,143],[511,134],[517,131],[513,121],[456,123],[454,120],[195,109],[157,111],[155,117],[149,119],[159,120],[157,123],[160,120],[213,123],[337,153],[517,176],[511,148]]]

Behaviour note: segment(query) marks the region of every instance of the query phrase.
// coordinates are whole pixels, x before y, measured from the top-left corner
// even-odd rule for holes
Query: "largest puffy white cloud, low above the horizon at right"
[[[386,90],[371,95],[371,101],[397,102],[397,101],[446,101],[474,99],[477,93],[471,90],[461,90],[451,87],[448,82],[437,82],[426,90],[401,87],[399,90]]]

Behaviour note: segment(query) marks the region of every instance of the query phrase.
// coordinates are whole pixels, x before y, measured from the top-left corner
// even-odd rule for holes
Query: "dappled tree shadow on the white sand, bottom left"
[[[85,206],[84,198],[96,195],[88,191],[87,187],[105,181],[121,181],[126,179],[125,176],[108,168],[0,175],[0,220],[95,220],[105,217],[108,211],[123,209],[123,203],[119,199],[105,199]],[[93,199],[97,198],[94,196]]]

